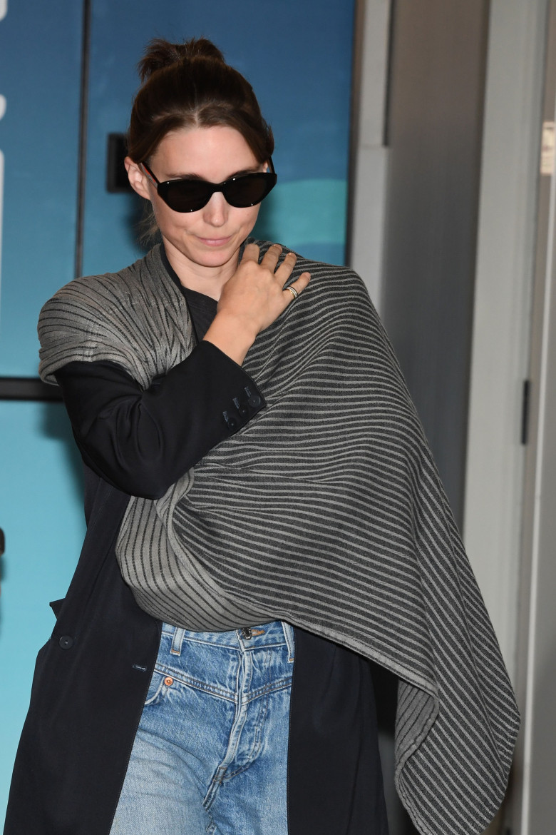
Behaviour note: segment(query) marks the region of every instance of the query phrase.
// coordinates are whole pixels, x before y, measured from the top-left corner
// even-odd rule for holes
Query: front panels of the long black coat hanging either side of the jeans
[[[161,625],[114,554],[129,497],[86,468],[85,498],[87,536],[38,653],[4,835],[108,835],[157,657]],[[289,835],[384,835],[368,663],[303,630],[295,640]]]

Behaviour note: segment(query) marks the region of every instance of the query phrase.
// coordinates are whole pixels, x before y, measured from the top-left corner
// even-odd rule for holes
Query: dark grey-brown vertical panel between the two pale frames
[[[461,524],[488,0],[398,0],[383,318]]]

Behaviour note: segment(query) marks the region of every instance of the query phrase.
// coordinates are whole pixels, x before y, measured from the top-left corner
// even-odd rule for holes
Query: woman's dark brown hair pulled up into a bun
[[[128,154],[134,162],[148,162],[171,130],[217,125],[238,130],[258,162],[273,153],[273,133],[251,84],[211,41],[168,43],[155,38],[138,69],[142,86],[133,100],[128,130]]]

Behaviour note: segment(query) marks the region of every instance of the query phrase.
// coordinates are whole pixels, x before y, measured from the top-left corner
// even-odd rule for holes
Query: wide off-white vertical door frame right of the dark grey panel
[[[515,674],[546,0],[492,0],[463,539]]]

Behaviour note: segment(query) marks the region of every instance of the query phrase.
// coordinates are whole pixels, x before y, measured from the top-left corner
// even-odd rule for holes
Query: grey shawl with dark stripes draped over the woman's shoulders
[[[162,499],[132,498],[123,573],[148,610],[163,600],[158,616],[178,621],[179,589],[191,584],[204,599],[188,620],[226,629],[238,611],[245,623],[264,614],[396,673],[404,805],[420,832],[481,832],[508,778],[512,688],[363,284],[342,267],[299,259],[295,273],[304,270],[308,289],[245,362],[267,407]],[[187,356],[190,334],[155,248],[48,302],[41,374],[52,380],[72,359],[111,359],[147,386]]]

